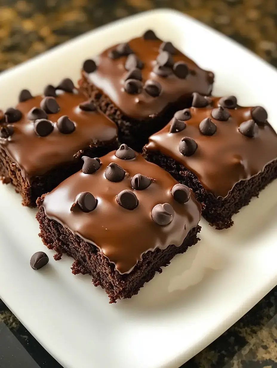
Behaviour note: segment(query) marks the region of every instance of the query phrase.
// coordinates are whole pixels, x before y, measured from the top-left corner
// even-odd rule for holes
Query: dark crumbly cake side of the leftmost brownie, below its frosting
[[[117,149],[118,140],[114,140],[109,144],[99,144],[98,146],[87,147],[75,154],[74,160],[63,163],[42,176],[36,177],[31,185],[21,175],[21,170],[16,163],[11,160],[7,153],[0,150],[0,177],[3,183],[11,183],[15,187],[15,191],[22,196],[22,205],[28,207],[36,207],[36,200],[42,194],[52,191],[63,180],[81,170],[83,166],[82,156],[101,157]]]

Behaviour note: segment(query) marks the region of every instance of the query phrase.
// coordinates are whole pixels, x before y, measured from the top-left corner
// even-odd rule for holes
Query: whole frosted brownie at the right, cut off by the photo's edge
[[[266,110],[238,106],[235,96],[194,93],[191,109],[153,134],[144,155],[188,185],[219,230],[277,177],[277,135]]]

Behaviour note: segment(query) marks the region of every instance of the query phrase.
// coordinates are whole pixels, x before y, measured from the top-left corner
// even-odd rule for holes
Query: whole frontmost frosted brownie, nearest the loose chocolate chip
[[[201,206],[193,193],[123,144],[38,198],[43,243],[73,257],[110,302],[130,298],[162,266],[196,244]]]

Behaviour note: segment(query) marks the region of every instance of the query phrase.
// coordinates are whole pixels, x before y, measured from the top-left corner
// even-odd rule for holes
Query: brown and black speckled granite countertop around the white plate
[[[1,0],[0,71],[110,21],[170,7],[277,67],[276,0]],[[61,367],[0,301],[0,367]],[[277,287],[182,368],[277,368]]]

